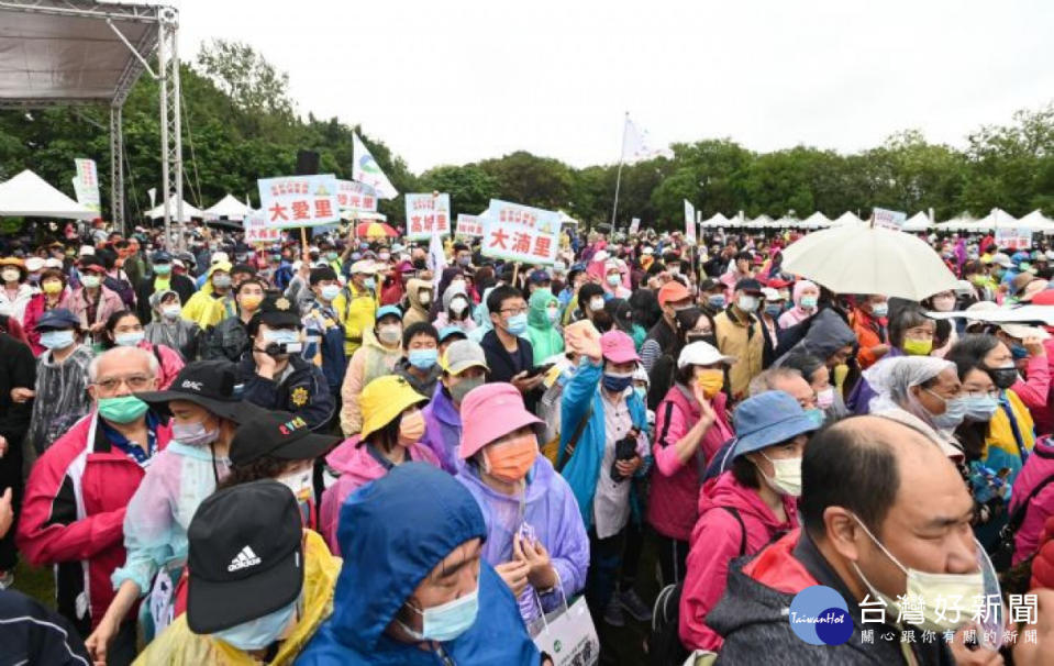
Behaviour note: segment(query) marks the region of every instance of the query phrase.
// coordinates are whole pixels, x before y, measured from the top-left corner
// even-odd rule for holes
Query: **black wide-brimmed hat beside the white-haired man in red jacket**
[[[171,415],[169,400],[186,400],[200,404],[221,419],[245,423],[266,411],[238,395],[234,364],[229,360],[196,360],[179,370],[164,391],[135,393],[160,414]]]

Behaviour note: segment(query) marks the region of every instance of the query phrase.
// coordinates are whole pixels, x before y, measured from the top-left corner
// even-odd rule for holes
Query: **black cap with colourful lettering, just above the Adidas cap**
[[[231,463],[245,465],[269,455],[285,460],[308,460],[328,453],[341,439],[317,435],[301,417],[267,411],[243,423],[231,442]]]

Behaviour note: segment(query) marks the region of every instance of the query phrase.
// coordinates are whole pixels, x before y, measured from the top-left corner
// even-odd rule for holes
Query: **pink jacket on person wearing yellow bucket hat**
[[[322,506],[319,508],[319,532],[334,555],[341,554],[341,545],[336,542],[336,528],[341,522],[344,500],[369,481],[388,474],[388,469],[366,446],[359,446],[359,441],[358,435],[352,435],[325,456],[326,464],[341,473],[336,482],[322,492]],[[440,467],[439,459],[428,446],[414,444],[408,453],[411,460],[423,460]]]

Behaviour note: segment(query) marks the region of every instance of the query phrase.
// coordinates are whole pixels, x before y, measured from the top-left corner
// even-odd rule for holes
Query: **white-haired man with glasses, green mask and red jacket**
[[[122,525],[152,457],[171,432],[133,393],[157,389],[157,359],[114,347],[88,366],[92,409],[37,459],[15,543],[34,566],[55,565],[58,611],[87,636],[113,600],[124,564]],[[135,620],[119,630],[110,664],[135,656]]]

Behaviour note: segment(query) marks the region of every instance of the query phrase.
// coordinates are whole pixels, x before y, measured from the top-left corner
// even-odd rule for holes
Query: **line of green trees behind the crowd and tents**
[[[184,196],[195,206],[211,206],[228,192],[258,204],[256,179],[293,173],[300,148],[320,154],[322,173],[350,178],[352,134],[358,132],[400,192],[448,192],[454,214],[478,213],[498,198],[562,209],[589,225],[610,222],[614,164],[574,168],[519,151],[413,174],[360,126],[299,116],[288,75],[252,46],[215,40],[182,65],[180,76]],[[149,207],[147,190],[160,188],[156,81],[140,78],[123,118],[126,214],[141,220]],[[74,158],[91,157],[107,210],[108,132],[104,108],[0,111],[0,179],[31,168],[71,196]],[[703,218],[739,211],[835,218],[847,210],[866,215],[876,206],[909,214],[932,208],[942,220],[984,215],[995,207],[1018,217],[1034,209],[1054,215],[1054,103],[1019,111],[1005,125],[983,126],[963,148],[930,143],[917,131],[853,154],[811,146],[759,153],[731,138],[670,147],[672,157],[623,167],[618,226],[635,217],[647,226],[679,229],[684,199]],[[380,211],[392,223],[403,221],[401,198],[382,201]]]

